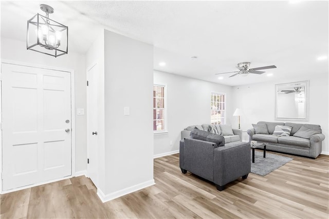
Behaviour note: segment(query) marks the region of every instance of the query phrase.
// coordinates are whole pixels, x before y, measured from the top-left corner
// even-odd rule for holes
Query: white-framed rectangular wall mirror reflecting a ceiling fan
[[[276,120],[308,121],[308,81],[276,85]]]

